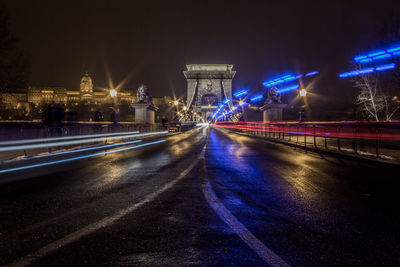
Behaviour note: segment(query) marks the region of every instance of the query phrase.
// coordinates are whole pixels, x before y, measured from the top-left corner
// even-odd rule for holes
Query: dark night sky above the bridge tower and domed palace
[[[356,54],[380,48],[400,1],[6,0],[31,59],[31,84],[77,89],[85,71],[106,86],[105,65],[125,87],[185,93],[187,63],[234,64],[234,88],[256,90],[285,72],[321,71],[322,102],[351,98],[338,81]],[[321,102],[321,103],[322,103]]]

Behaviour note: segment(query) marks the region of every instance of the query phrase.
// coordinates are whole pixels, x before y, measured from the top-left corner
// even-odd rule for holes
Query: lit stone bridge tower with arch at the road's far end
[[[187,104],[210,120],[226,98],[232,99],[232,79],[236,71],[229,64],[190,64],[183,72],[187,80]]]

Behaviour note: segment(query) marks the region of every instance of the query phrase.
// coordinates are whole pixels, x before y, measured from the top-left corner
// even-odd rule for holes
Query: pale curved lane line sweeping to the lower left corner
[[[184,178],[200,161],[200,158],[198,158],[197,160],[195,160],[188,168],[186,168],[184,171],[182,171],[178,177],[176,177],[174,180],[172,180],[171,182],[165,184],[163,187],[161,187],[161,189],[147,195],[143,200],[141,200],[138,203],[135,203],[133,206],[130,206],[128,208],[122,209],[120,211],[118,211],[117,213],[115,213],[114,215],[111,215],[109,217],[106,217],[98,222],[92,223],[76,232],[73,232],[53,243],[50,243],[42,248],[40,248],[39,250],[25,255],[19,259],[17,259],[16,261],[4,265],[5,267],[20,267],[20,266],[28,266],[31,263],[33,263],[34,261],[49,255],[50,253],[56,251],[59,248],[62,248],[68,244],[71,244],[97,230],[100,230],[101,228],[110,226],[111,224],[115,223],[116,221],[118,221],[119,219],[121,219],[122,217],[126,216],[127,214],[133,212],[134,210],[140,208],[141,206],[143,206],[144,204],[147,204],[151,201],[153,201],[159,194],[167,191],[168,189],[172,188],[177,182],[179,182],[182,178]]]

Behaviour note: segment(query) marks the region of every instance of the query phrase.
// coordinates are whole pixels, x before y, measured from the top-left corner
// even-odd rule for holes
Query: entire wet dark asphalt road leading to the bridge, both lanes
[[[207,127],[164,139],[8,174],[35,177],[0,186],[0,265],[400,265],[398,167]]]

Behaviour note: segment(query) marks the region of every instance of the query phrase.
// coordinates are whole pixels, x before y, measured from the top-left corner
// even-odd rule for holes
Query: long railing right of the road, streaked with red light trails
[[[212,126],[295,144],[305,150],[400,159],[400,122],[217,122]]]

